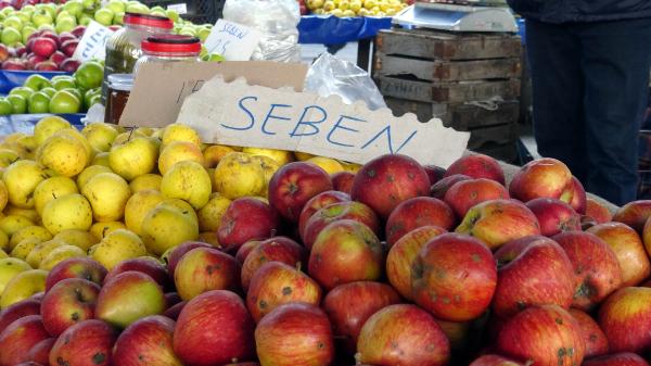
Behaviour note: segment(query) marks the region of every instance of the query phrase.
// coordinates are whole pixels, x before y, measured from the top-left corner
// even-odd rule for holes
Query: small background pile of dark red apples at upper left
[[[86,27],[82,25],[60,35],[51,30],[38,30],[29,36],[25,46],[10,48],[0,43],[0,68],[74,73],[79,67],[79,61],[72,56],[84,31]]]

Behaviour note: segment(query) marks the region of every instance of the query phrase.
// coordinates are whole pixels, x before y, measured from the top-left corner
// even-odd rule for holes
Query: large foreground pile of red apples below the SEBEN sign
[[[0,366],[649,365],[651,201],[611,216],[551,159],[507,188],[485,155],[295,162],[268,193],[219,249],[60,263],[0,313]]]

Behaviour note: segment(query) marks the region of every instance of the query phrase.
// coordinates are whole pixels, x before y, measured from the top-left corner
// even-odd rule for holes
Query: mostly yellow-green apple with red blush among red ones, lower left
[[[104,283],[98,298],[95,317],[118,328],[165,311],[163,289],[150,276],[125,272]]]

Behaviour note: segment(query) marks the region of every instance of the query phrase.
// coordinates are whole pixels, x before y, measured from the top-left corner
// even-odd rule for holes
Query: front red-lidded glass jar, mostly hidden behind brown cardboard
[[[142,41],[142,56],[138,59],[133,73],[138,67],[150,62],[201,61],[201,41],[196,37],[180,35],[155,35]]]

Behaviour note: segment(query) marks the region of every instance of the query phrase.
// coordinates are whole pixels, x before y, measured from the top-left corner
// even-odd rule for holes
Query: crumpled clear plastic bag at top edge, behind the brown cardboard
[[[224,18],[263,33],[251,60],[301,61],[296,28],[301,11],[296,0],[227,0]]]

